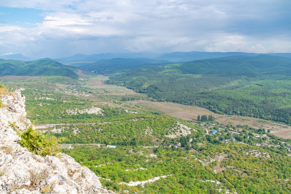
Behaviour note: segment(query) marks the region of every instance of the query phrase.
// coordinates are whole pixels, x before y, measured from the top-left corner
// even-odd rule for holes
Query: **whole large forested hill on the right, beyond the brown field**
[[[114,75],[107,83],[125,85],[158,101],[291,124],[288,58],[260,55],[149,66]]]

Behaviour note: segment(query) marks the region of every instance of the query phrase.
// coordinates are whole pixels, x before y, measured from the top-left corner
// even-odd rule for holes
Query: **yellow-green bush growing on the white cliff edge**
[[[37,132],[31,127],[19,134],[22,138],[20,145],[26,147],[29,151],[40,156],[56,156],[59,151],[59,140],[55,136],[49,136]]]

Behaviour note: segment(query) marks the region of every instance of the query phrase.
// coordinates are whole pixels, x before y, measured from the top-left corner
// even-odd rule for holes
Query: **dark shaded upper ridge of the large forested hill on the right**
[[[290,70],[291,59],[260,55],[251,58],[216,58],[169,65],[169,69],[181,70],[183,74],[231,74],[254,75]]]

